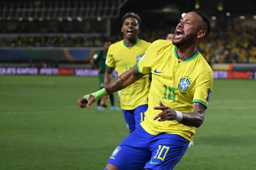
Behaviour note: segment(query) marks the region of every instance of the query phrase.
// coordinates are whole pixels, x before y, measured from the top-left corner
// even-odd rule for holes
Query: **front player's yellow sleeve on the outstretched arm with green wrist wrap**
[[[145,51],[141,59],[137,62],[137,69],[141,74],[150,74],[154,66],[157,53],[157,41],[153,42]]]

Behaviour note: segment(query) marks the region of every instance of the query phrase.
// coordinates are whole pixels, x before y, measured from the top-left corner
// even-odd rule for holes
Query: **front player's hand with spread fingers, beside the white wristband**
[[[166,121],[166,120],[175,120],[177,117],[177,113],[175,110],[172,110],[171,108],[165,106],[162,101],[159,101],[159,105],[158,107],[154,107],[155,110],[162,110],[161,113],[159,113],[158,115],[156,115],[153,120],[156,120],[158,117],[160,117],[160,119],[158,119],[159,122],[162,121]]]

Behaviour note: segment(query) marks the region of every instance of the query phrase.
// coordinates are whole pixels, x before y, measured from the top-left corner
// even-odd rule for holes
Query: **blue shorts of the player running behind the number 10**
[[[144,104],[136,107],[133,110],[123,110],[124,119],[130,133],[132,133],[136,129],[136,127],[138,127],[140,123],[144,121],[144,116],[147,108],[148,105]]]

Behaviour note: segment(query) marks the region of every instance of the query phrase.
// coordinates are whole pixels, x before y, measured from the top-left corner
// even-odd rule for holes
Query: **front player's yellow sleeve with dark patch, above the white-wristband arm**
[[[206,108],[210,99],[211,89],[213,83],[213,72],[208,72],[197,84],[193,103],[201,103]]]

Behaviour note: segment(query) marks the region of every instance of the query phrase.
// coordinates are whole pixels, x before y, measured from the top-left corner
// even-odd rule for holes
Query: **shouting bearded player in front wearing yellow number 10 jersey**
[[[105,169],[172,170],[179,162],[208,107],[213,72],[197,46],[210,31],[203,12],[187,13],[180,19],[173,41],[153,42],[135,67],[78,100],[79,107],[89,108],[101,96],[152,73],[145,120],[114,150]]]

